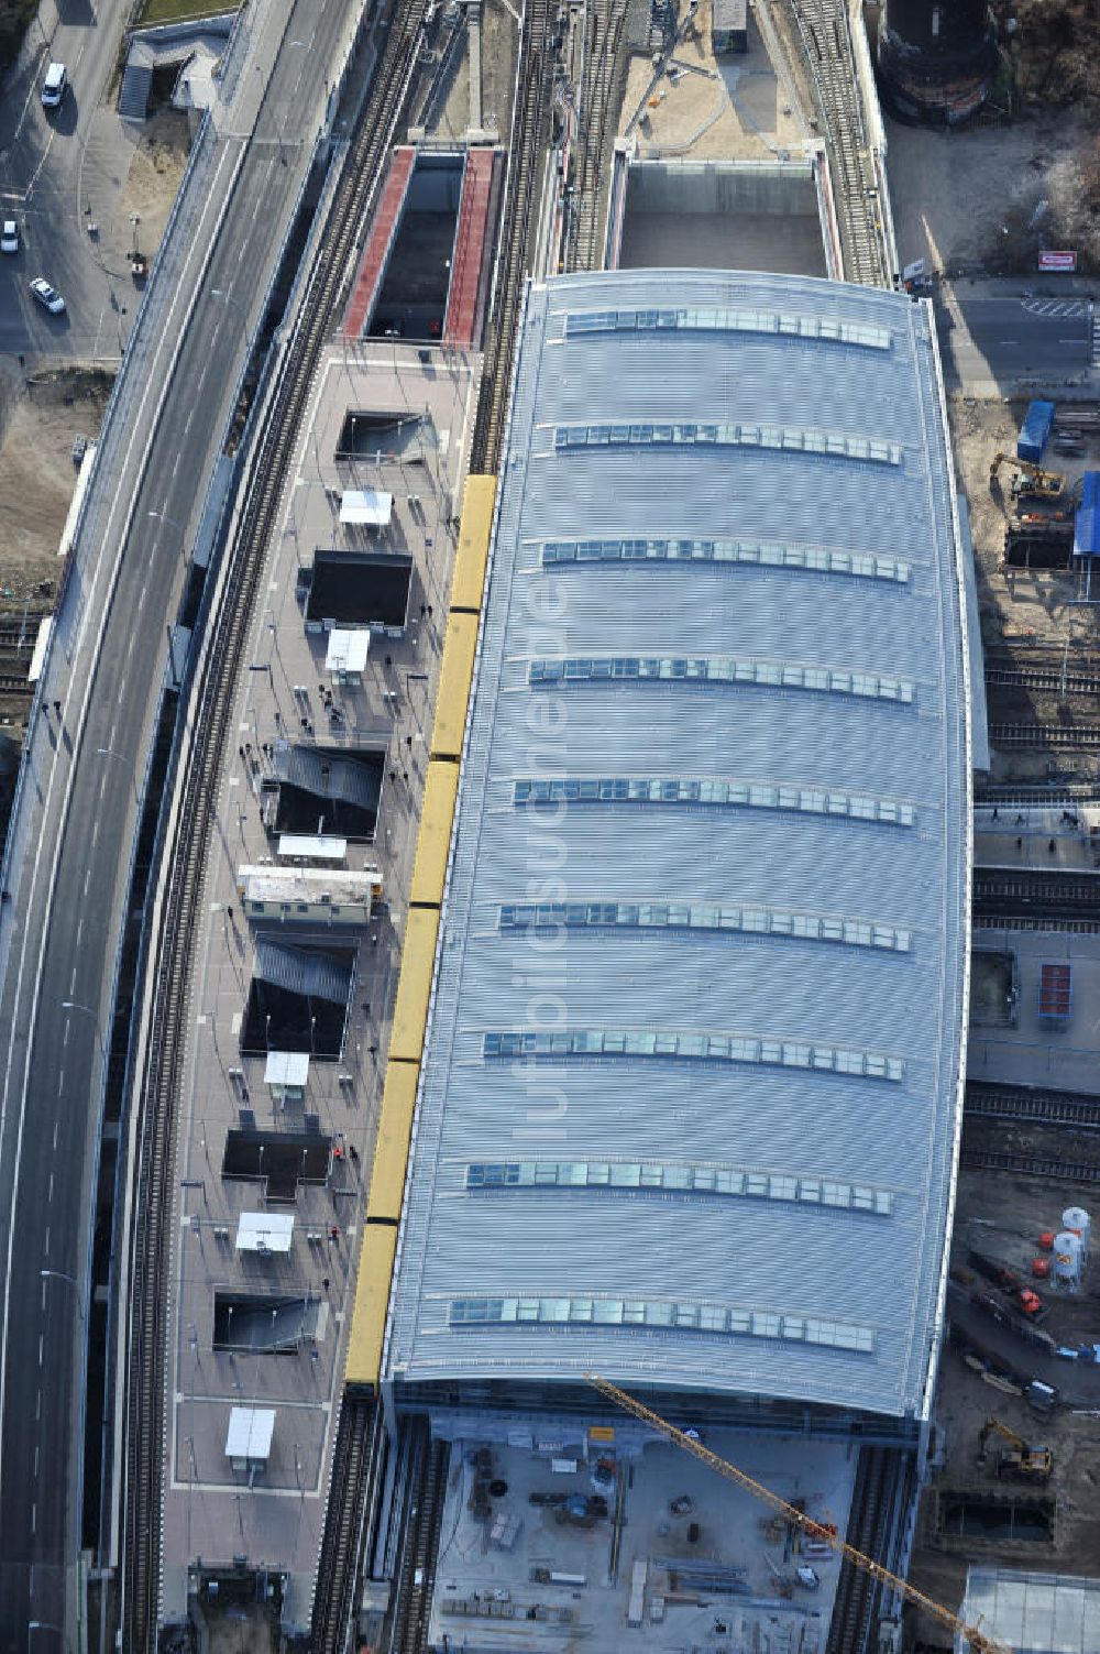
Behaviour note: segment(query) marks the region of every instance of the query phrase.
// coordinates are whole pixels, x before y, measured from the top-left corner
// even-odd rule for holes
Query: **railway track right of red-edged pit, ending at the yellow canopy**
[[[508,141],[500,251],[496,255],[481,394],[470,448],[470,470],[480,475],[498,470],[505,437],[519,303],[538,213],[539,159],[549,141],[554,79],[551,22],[551,0],[526,0],[519,30],[519,65]]]

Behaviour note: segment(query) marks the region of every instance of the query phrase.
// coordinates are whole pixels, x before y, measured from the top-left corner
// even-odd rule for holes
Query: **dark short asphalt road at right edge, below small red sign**
[[[945,367],[963,382],[1069,379],[1092,359],[1088,299],[969,296],[956,288],[936,316]]]

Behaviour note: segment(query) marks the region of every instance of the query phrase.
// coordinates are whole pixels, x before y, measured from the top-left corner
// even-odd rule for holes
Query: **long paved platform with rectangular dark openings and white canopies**
[[[443,359],[437,352],[423,364],[415,347],[382,341],[341,341],[329,349],[314,382],[266,594],[253,624],[246,660],[258,670],[246,672],[238,690],[238,749],[218,797],[179,1135],[164,1530],[170,1614],[185,1608],[187,1568],[197,1556],[213,1566],[246,1553],[291,1575],[285,1624],[308,1629],[309,1623],[476,370],[476,357]],[[417,435],[405,442],[399,460],[385,453],[380,460],[337,460],[346,415],[356,410],[418,418]],[[392,493],[389,528],[339,523],[341,491],[352,488]],[[306,632],[296,597],[298,571],[313,566],[316,549],[404,551],[414,559],[409,629],[402,637],[372,633],[362,685],[331,690],[339,721],[328,716],[319,691],[319,685],[331,683],[324,668],[328,632],[319,624]],[[313,724],[311,734],[303,723]],[[384,878],[385,906],[366,931],[304,921],[250,928],[242,916],[238,868],[276,857],[276,839],[261,822],[261,787],[271,774],[265,746],[283,736],[313,741],[332,756],[364,746],[385,751],[375,839],[347,847],[349,868],[379,867]],[[242,756],[248,749],[253,756]],[[304,1098],[285,1107],[265,1085],[265,1057],[242,1055],[240,1049],[260,935],[286,946],[351,948],[356,958],[339,1060],[313,1057]],[[243,1075],[246,1098],[233,1072]],[[228,1130],[255,1121],[261,1131],[303,1131],[309,1130],[308,1116],[334,1146],[323,1183],[299,1183],[289,1202],[275,1202],[261,1176],[222,1176]],[[294,1217],[291,1250],[238,1254],[242,1212],[265,1211]],[[218,1234],[223,1229],[228,1236]],[[215,1293],[301,1302],[311,1305],[311,1315],[319,1307],[318,1336],[303,1338],[285,1355],[215,1348]],[[276,1409],[271,1457],[255,1474],[233,1469],[225,1454],[233,1406]]]

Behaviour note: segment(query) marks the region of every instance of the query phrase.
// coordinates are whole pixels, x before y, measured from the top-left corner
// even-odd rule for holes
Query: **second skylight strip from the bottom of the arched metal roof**
[[[466,1189],[490,1194],[508,1189],[627,1189],[655,1194],[698,1194],[725,1199],[781,1201],[799,1206],[840,1207],[893,1214],[893,1193],[868,1184],[799,1178],[789,1173],[754,1171],[746,1166],[703,1166],[693,1161],[640,1163],[591,1159],[471,1161]]]

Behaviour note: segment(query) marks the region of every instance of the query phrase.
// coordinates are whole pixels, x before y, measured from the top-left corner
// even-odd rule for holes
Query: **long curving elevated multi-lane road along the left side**
[[[185,306],[195,293],[195,308],[165,400],[157,415],[159,375],[167,377],[162,362],[137,387],[144,400],[134,412],[126,475],[103,513],[104,554],[96,562],[84,547],[66,595],[65,619],[79,617],[68,638],[71,681],[61,716],[43,718],[50,749],[35,762],[28,802],[41,807],[43,827],[15,900],[3,910],[10,926],[0,991],[3,1654],[25,1654],[31,1623],[35,1654],[76,1647],[83,1292],[101,1030],[126,900],[134,776],[144,771],[165,624],[177,610],[185,549],[233,400],[246,319],[266,288],[298,190],[296,160],[304,151],[298,137],[311,137],[319,126],[326,76],[349,12],[351,0],[298,0],[291,12],[213,256],[202,276],[185,268],[179,278],[174,303]],[[280,7],[268,12],[271,28],[281,31],[280,13]],[[291,50],[303,40],[309,51]],[[232,169],[242,144],[218,139],[218,165]],[[96,607],[109,587],[116,547],[117,584],[99,640]],[[50,1629],[61,1626],[65,1636]]]

